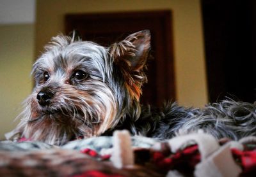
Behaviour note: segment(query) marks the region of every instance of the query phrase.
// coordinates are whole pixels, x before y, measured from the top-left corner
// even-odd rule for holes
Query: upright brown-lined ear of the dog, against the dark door
[[[150,31],[144,30],[131,34],[123,41],[109,48],[113,59],[125,78],[125,87],[132,99],[139,101],[141,86],[147,81],[143,71],[150,52]]]

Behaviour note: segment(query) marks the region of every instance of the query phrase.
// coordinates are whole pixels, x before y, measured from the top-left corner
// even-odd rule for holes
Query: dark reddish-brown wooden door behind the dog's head
[[[148,61],[148,83],[143,86],[141,103],[161,106],[164,101],[175,100],[171,11],[68,14],[65,31],[74,29],[83,40],[104,46],[149,29],[154,59]]]

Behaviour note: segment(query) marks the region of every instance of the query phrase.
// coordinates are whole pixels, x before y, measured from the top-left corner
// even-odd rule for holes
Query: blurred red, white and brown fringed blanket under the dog
[[[215,139],[204,132],[166,141],[116,131],[63,146],[0,142],[0,176],[253,176],[256,137]]]

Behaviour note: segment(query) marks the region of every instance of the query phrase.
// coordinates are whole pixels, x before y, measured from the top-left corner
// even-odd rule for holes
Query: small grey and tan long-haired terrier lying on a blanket
[[[227,99],[202,109],[171,102],[163,108],[141,106],[149,56],[148,30],[109,47],[74,33],[52,38],[33,64],[35,88],[12,134],[51,145],[108,136],[116,129],[160,140],[199,129],[234,140],[255,135],[255,104]]]

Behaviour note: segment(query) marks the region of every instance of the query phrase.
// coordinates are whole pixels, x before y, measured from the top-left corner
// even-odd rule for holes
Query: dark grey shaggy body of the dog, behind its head
[[[125,119],[116,129],[129,129],[132,134],[162,140],[201,129],[218,139],[237,140],[256,135],[255,113],[256,104],[231,99],[208,104],[203,109],[184,108],[177,103],[167,103],[161,110],[152,109],[150,106],[143,108],[137,121]]]

